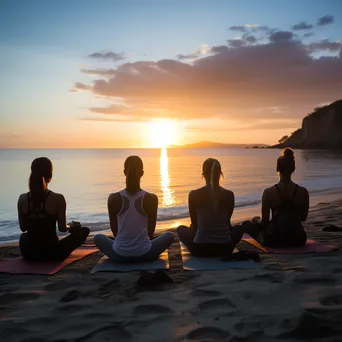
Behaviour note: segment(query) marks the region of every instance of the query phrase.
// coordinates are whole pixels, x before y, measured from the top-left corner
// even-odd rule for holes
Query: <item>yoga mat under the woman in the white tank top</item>
[[[139,263],[114,263],[104,256],[91,270],[95,272],[131,272],[131,271],[147,271],[147,270],[166,270],[169,268],[169,257],[167,251],[159,256],[159,259],[149,262]]]

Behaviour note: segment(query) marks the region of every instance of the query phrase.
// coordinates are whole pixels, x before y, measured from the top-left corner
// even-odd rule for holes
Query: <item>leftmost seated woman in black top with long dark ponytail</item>
[[[26,260],[63,260],[88,237],[89,229],[66,225],[64,196],[48,190],[52,178],[52,163],[48,158],[35,159],[31,164],[28,193],[18,199],[18,218],[22,232],[19,246]],[[69,228],[70,235],[59,240],[60,232]]]

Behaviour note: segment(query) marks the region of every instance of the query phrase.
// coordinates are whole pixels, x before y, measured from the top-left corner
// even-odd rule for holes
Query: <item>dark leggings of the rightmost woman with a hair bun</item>
[[[245,221],[242,223],[243,231],[248,233],[253,239],[257,240],[264,247],[300,247],[304,246],[307,236],[304,228],[298,229],[282,237],[273,231],[271,223],[265,226],[263,223]]]

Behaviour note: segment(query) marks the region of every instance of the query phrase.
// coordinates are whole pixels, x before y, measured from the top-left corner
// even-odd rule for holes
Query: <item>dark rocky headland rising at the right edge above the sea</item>
[[[302,128],[284,137],[276,148],[340,149],[342,148],[342,100],[324,107],[303,119]]]

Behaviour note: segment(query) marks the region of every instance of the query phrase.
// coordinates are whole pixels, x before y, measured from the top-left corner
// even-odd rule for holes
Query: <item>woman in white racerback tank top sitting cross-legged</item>
[[[112,238],[98,234],[97,247],[113,262],[134,263],[153,261],[167,250],[174,237],[165,232],[154,238],[158,197],[140,188],[144,174],[143,162],[130,156],[124,165],[126,188],[108,197],[108,213]]]

